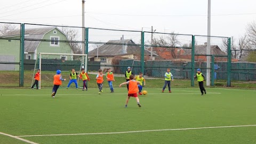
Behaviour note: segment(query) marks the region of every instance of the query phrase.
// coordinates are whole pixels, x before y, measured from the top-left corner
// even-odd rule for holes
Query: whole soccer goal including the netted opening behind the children
[[[87,54],[38,53],[31,86],[34,83],[34,77],[38,69],[41,70],[38,89],[41,89],[41,87],[51,87],[53,85],[53,76],[58,69],[61,70],[62,77],[68,81],[73,68],[78,75],[82,68],[87,71]],[[77,83],[79,85],[79,78]]]

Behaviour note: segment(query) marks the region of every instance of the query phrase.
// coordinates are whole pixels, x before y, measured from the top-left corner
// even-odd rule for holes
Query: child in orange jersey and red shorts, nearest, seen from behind
[[[141,105],[140,105],[140,100],[139,100],[139,97],[138,97],[138,94],[137,94],[137,92],[139,91],[139,89],[138,89],[138,84],[140,84],[140,82],[136,81],[136,80],[134,79],[134,76],[133,76],[133,75],[130,75],[129,78],[130,78],[130,81],[124,82],[124,83],[122,83],[122,84],[119,85],[119,87],[121,87],[123,84],[129,84],[128,96],[127,96],[127,98],[126,98],[125,107],[127,107],[127,104],[128,104],[128,102],[129,102],[129,100],[130,100],[130,97],[134,97],[134,98],[136,99],[136,101],[137,101],[137,105],[138,105],[139,107],[141,107]]]

